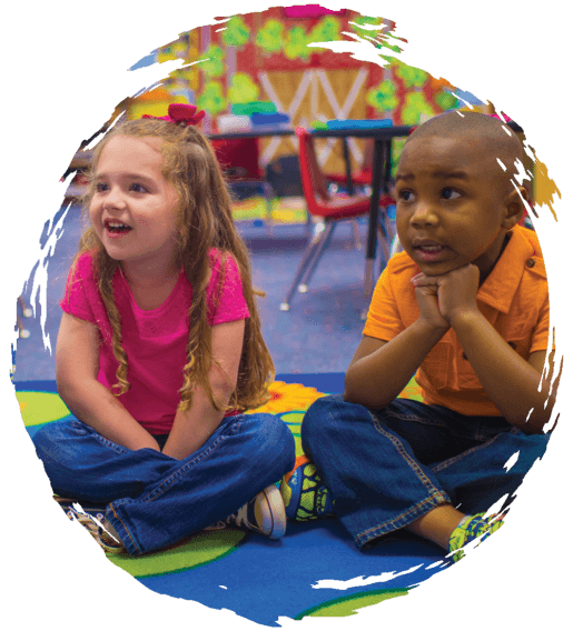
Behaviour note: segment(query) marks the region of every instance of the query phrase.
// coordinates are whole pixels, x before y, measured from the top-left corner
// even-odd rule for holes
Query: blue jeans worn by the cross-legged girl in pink
[[[294,437],[271,414],[224,418],[184,460],[129,450],[78,420],[47,424],[32,442],[52,491],[80,504],[109,504],[106,517],[131,555],[229,517],[295,465]]]

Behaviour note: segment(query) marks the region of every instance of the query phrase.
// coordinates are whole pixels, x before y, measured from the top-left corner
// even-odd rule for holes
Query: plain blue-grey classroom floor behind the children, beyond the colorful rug
[[[65,210],[60,209],[58,218]],[[364,307],[366,222],[362,220],[358,223],[362,250],[355,249],[349,222],[337,227],[308,292],[295,294],[288,312],[280,311],[279,307],[306,247],[307,227],[275,226],[270,234],[268,228],[250,222],[239,222],[237,226],[251,253],[254,284],[267,292],[266,298],[257,300],[263,334],[275,361],[277,375],[344,373],[364,328],[360,313]],[[53,252],[47,259],[43,331],[42,306],[37,292],[34,314],[23,319],[30,335],[19,338],[17,342],[14,381],[49,381],[56,378],[56,340],[61,318],[59,301],[63,297],[67,272],[80,233],[79,208],[70,207],[58,230]],[[42,248],[49,234],[48,221],[40,238]],[[30,270],[30,277],[21,290],[28,303],[36,268]],[[376,266],[376,273],[379,273],[379,264]],[[45,344],[45,338],[49,347]]]

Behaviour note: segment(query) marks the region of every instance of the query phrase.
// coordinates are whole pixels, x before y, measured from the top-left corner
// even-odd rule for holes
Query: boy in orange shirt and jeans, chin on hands
[[[404,251],[376,284],[344,395],[305,414],[307,458],[281,483],[290,519],[336,514],[358,549],[406,529],[453,561],[503,524],[486,511],[544,454],[561,377],[552,388],[553,349],[542,379],[549,287],[537,236],[518,226],[521,162],[518,138],[476,112],[438,116],[406,141]],[[414,373],[423,402],[397,398]]]

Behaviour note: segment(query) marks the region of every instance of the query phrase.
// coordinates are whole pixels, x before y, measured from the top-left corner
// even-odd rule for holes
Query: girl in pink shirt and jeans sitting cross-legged
[[[32,441],[55,499],[106,551],[286,528],[276,482],[294,438],[245,413],[269,399],[275,370],[202,116],[174,104],[100,141],[60,303],[56,378],[77,420]]]

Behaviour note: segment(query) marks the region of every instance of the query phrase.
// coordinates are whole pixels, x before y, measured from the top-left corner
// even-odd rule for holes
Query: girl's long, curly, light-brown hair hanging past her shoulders
[[[179,390],[179,410],[188,410],[196,385],[209,397],[219,411],[255,409],[270,399],[268,385],[275,379],[275,365],[260,332],[260,319],[255,296],[265,296],[253,287],[250,257],[238,234],[231,216],[231,194],[221,173],[219,162],[207,137],[197,128],[185,127],[158,119],[128,120],[116,124],[93,150],[88,170],[89,186],[82,198],[83,220],[89,222],[89,207],[95,193],[95,173],[101,151],[116,136],[152,137],[161,140],[164,177],[175,186],[179,202],[176,208],[178,266],[185,268],[192,287],[189,309],[189,339],[187,363],[182,368],[184,384]],[[209,383],[209,370],[215,361],[211,351],[211,329],[207,321],[207,287],[211,267],[210,248],[220,251],[219,288],[224,282],[225,260],[235,258],[243,280],[243,293],[250,317],[245,322],[245,338],[239,363],[237,385],[229,404],[215,401]],[[121,322],[113,300],[112,278],[120,262],[111,259],[91,224],[83,231],[72,263],[87,251],[96,251],[95,271],[99,291],[112,329],[113,354],[119,362],[117,383],[111,388],[116,397],[129,389],[128,358],[121,341]],[[219,367],[218,362],[215,363]]]

